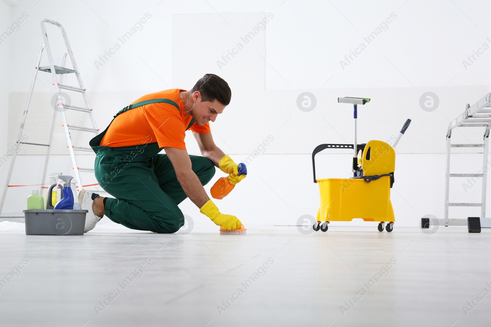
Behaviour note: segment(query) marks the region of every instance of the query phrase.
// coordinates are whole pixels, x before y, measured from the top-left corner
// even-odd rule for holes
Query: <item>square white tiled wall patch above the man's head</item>
[[[240,81],[236,89],[264,89],[264,21],[264,12],[172,15],[172,85],[191,88],[204,72]]]

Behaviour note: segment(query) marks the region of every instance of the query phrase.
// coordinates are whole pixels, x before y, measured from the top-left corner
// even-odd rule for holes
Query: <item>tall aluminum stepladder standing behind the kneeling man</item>
[[[51,52],[51,49],[50,49],[50,45],[49,45],[49,42],[48,42],[48,34],[46,33],[46,25],[45,25],[45,23],[53,24],[53,25],[56,25],[56,26],[58,26],[60,28],[61,34],[63,36],[63,40],[65,42],[65,46],[66,46],[66,51],[65,51],[65,53],[63,55],[62,67],[55,66],[55,64],[53,62],[53,55],[52,55],[52,52]],[[89,105],[89,102],[88,102],[88,99],[87,99],[87,95],[85,93],[85,89],[83,88],[82,79],[80,77],[79,70],[78,70],[77,64],[75,62],[75,58],[73,56],[72,48],[70,47],[70,43],[68,42],[68,38],[67,38],[67,35],[66,35],[66,32],[65,32],[65,29],[63,28],[63,26],[61,24],[59,24],[59,23],[57,23],[55,21],[49,20],[49,19],[45,19],[45,20],[43,20],[41,22],[41,30],[42,30],[43,38],[44,38],[44,45],[41,47],[41,50],[40,50],[40,53],[39,53],[39,59],[38,59],[37,66],[36,66],[36,72],[34,74],[34,79],[32,80],[31,88],[30,88],[30,91],[29,91],[29,96],[27,98],[26,109],[24,111],[24,116],[23,116],[22,123],[21,123],[20,129],[19,129],[19,134],[17,136],[16,144],[17,145],[19,145],[19,144],[30,144],[30,145],[35,145],[35,146],[44,146],[44,147],[47,147],[46,159],[45,159],[44,169],[43,169],[43,176],[41,178],[41,184],[46,183],[46,173],[47,173],[48,163],[49,163],[49,158],[50,158],[50,151],[51,151],[51,145],[52,145],[52,140],[53,140],[53,133],[54,133],[54,130],[55,130],[56,116],[57,116],[57,111],[59,111],[61,113],[61,119],[62,119],[63,127],[64,127],[63,129],[65,131],[65,136],[66,136],[67,145],[68,145],[67,147],[68,147],[68,150],[70,151],[70,157],[71,157],[72,165],[73,165],[73,174],[74,174],[75,179],[78,182],[77,191],[80,192],[83,189],[82,188],[82,185],[83,184],[82,184],[82,179],[80,178],[80,174],[79,173],[80,172],[93,173],[94,172],[94,169],[93,168],[79,168],[78,165],[77,165],[77,160],[76,160],[75,152],[74,151],[89,151],[89,152],[92,152],[92,153],[93,153],[93,151],[92,151],[91,148],[88,148],[88,147],[77,147],[77,146],[73,146],[72,139],[71,139],[71,136],[70,136],[70,129],[73,129],[73,130],[81,130],[81,131],[91,132],[91,133],[95,133],[95,134],[98,133],[99,129],[97,129],[97,126],[96,126],[96,123],[95,123],[95,120],[94,120],[94,116],[92,114],[92,109],[90,108],[90,105]],[[49,60],[49,64],[50,65],[49,66],[45,66],[45,67],[39,67],[39,65],[41,63],[41,58],[43,56],[43,50],[46,50],[47,51],[48,60]],[[66,63],[66,56],[67,55],[70,57],[70,61],[72,63],[73,69],[64,68],[65,67],[65,63]],[[56,101],[57,108],[55,108],[55,110],[53,110],[53,120],[52,120],[52,123],[51,123],[51,131],[50,131],[50,135],[49,135],[49,139],[48,139],[48,144],[30,143],[30,142],[22,142],[21,141],[21,138],[22,138],[22,135],[23,135],[23,130],[24,130],[24,125],[25,125],[26,119],[27,119],[27,111],[28,111],[28,108],[29,108],[29,102],[31,100],[32,92],[34,90],[34,84],[35,84],[36,78],[37,78],[37,73],[39,71],[51,73],[51,75],[53,77],[53,85],[55,86],[55,92],[56,92],[55,94],[57,96],[57,98],[56,98],[57,99],[57,101]],[[64,74],[72,74],[72,73],[74,73],[77,76],[77,81],[78,81],[79,85],[77,85],[77,86],[70,86],[70,85],[64,85],[64,84],[62,84],[62,82],[63,82],[63,75]],[[59,80],[57,78],[57,75],[60,76],[59,77]],[[63,102],[62,101],[63,97],[62,97],[61,91],[60,91],[62,89],[69,90],[69,91],[80,92],[82,94],[83,101],[84,101],[84,104],[85,104],[84,107],[77,107],[77,106],[73,106],[73,105],[70,105],[70,106],[64,105],[62,103]],[[76,110],[76,111],[86,112],[89,115],[92,128],[80,127],[80,126],[73,126],[73,125],[67,124],[66,116],[65,116],[65,111],[66,110]],[[8,190],[8,187],[9,187],[10,178],[12,176],[12,171],[13,171],[13,168],[14,168],[16,156],[17,156],[17,151],[14,152],[14,154],[13,154],[13,156],[11,158],[11,161],[10,161],[10,167],[9,167],[9,170],[8,170],[7,179],[5,181],[5,187],[3,188],[3,193],[1,195],[0,213],[1,213],[2,209],[3,209],[3,204],[5,202],[5,198],[6,198],[6,195],[7,195],[7,190]],[[69,174],[69,175],[71,175],[71,174]],[[42,189],[43,188],[41,188],[41,190]],[[101,192],[101,193],[104,193],[102,190],[97,190],[97,191],[98,192]],[[43,192],[41,191],[40,194],[43,195]],[[0,217],[0,218],[2,218],[2,217]]]

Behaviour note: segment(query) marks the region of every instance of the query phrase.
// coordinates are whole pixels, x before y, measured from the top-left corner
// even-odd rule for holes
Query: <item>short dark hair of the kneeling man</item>
[[[191,89],[191,94],[199,91],[201,101],[218,100],[223,105],[228,105],[232,98],[232,91],[228,83],[218,75],[206,74],[201,77]]]

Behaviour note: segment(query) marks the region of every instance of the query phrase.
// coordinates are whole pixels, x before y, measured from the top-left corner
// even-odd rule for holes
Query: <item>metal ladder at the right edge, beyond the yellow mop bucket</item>
[[[452,136],[452,130],[457,127],[486,127],[484,131],[484,142],[482,144],[452,144],[450,142]],[[481,207],[481,225],[483,225],[486,219],[486,186],[487,186],[487,169],[491,168],[491,164],[488,163],[488,151],[489,151],[489,136],[491,126],[491,93],[488,93],[481,100],[477,101],[474,105],[465,105],[465,111],[454,119],[448,125],[447,131],[447,155],[446,155],[446,173],[445,173],[445,213],[444,224],[445,226],[466,226],[467,220],[464,219],[449,219],[448,209],[451,206],[480,206]],[[483,170],[479,174],[450,174],[450,150],[451,148],[484,148],[483,150]],[[457,203],[449,201],[450,191],[450,177],[481,177],[482,178],[482,190],[481,190],[481,202],[480,203]],[[483,226],[485,227],[485,226]]]

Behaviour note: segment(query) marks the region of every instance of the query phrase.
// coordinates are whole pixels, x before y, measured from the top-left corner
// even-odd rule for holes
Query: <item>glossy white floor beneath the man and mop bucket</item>
[[[106,223],[27,236],[1,222],[0,278],[18,276],[0,284],[0,325],[489,326],[491,230],[247,228],[166,235]]]

